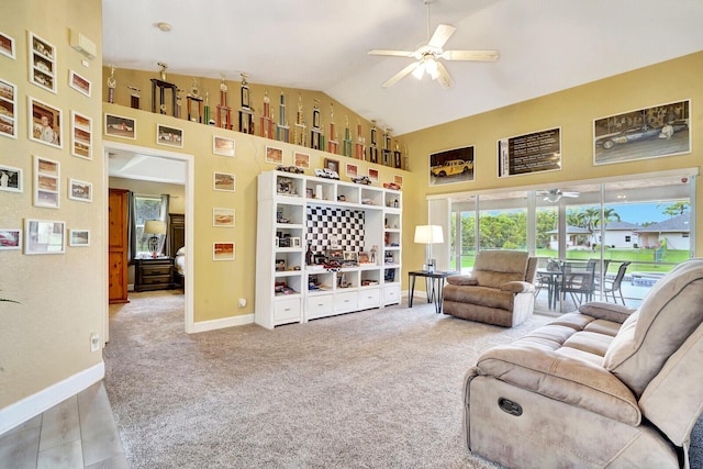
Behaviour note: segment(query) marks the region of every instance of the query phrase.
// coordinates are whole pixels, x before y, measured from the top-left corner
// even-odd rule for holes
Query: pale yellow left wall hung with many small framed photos
[[[18,87],[18,138],[0,136],[3,165],[24,171],[24,192],[0,192],[0,227],[23,228],[25,219],[66,222],[67,228],[90,230],[89,247],[66,247],[63,255],[26,256],[0,252],[0,297],[22,304],[0,303],[0,409],[76,373],[99,365],[90,351],[90,334],[102,335],[107,316],[105,191],[101,152],[102,69],[100,58],[81,64],[69,46],[69,27],[102,49],[100,0],[2,1],[0,31],[14,37],[15,59],[0,56],[0,79]],[[27,77],[27,30],[53,44],[57,93],[32,85]],[[92,98],[68,87],[77,71],[92,82]],[[62,110],[63,148],[27,138],[27,96]],[[70,155],[70,111],[92,119],[93,158]],[[36,208],[32,201],[33,155],[60,164],[60,208]],[[92,203],[68,200],[68,178],[93,185]]]

